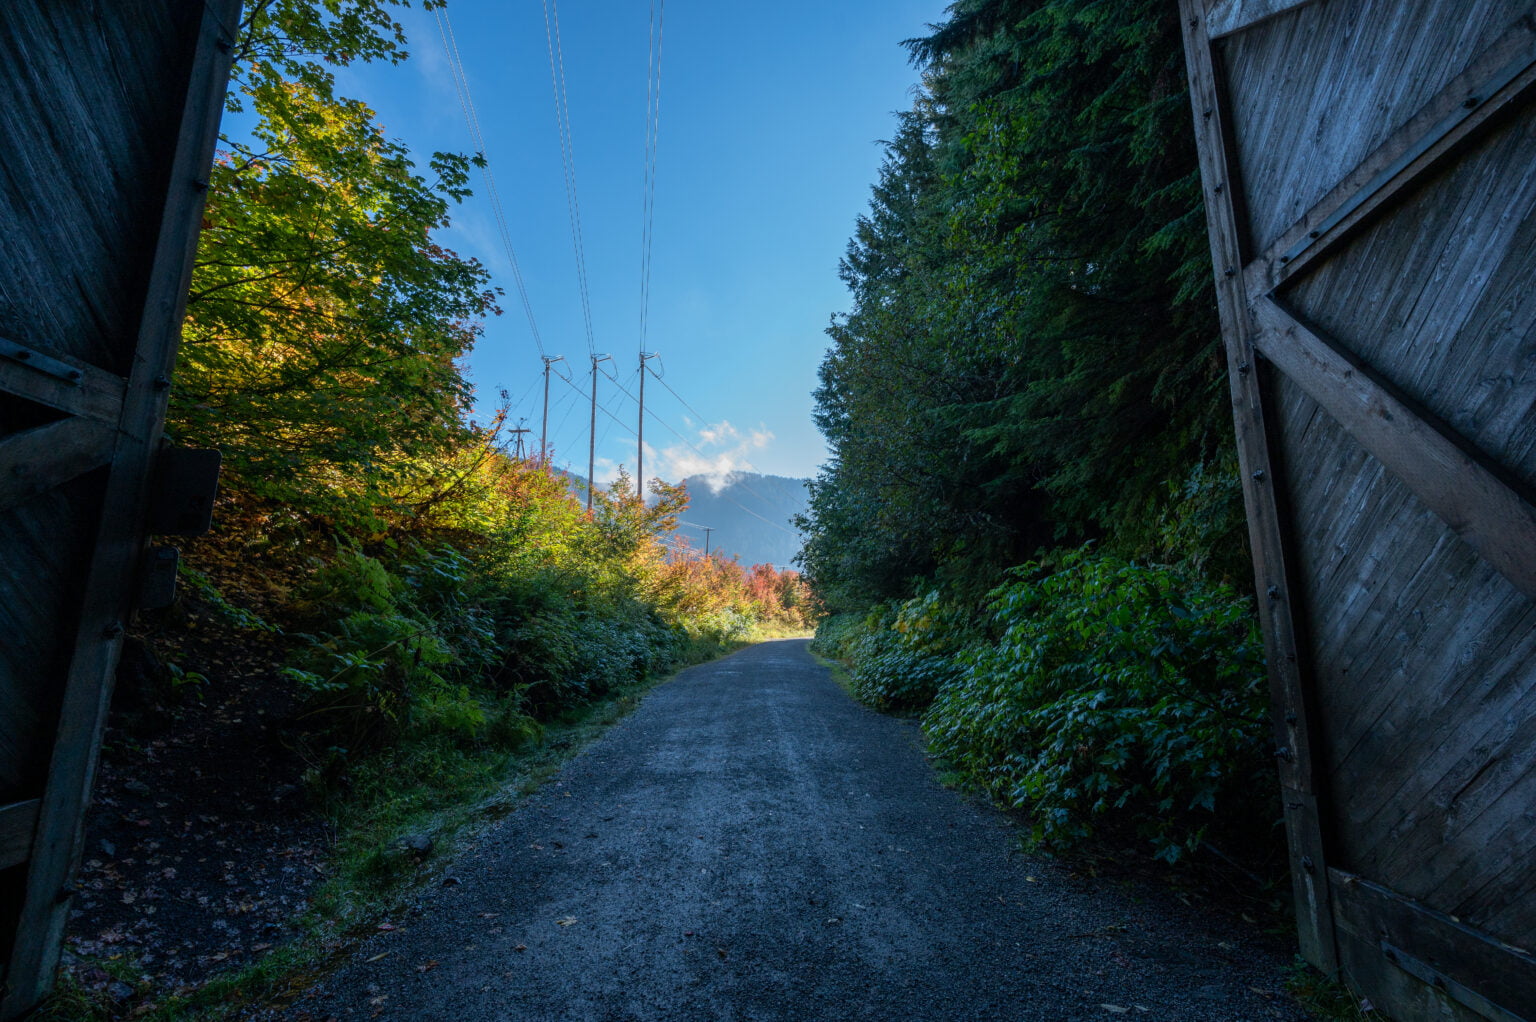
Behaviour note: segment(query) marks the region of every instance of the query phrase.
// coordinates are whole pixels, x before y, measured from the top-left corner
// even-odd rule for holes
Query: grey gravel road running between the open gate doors
[[[1273,942],[1015,845],[766,642],[653,690],[283,1017],[1306,1017]]]

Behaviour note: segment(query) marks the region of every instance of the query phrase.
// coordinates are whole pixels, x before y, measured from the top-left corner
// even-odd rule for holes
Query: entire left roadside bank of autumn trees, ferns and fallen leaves
[[[223,452],[215,526],[129,636],[41,1017],[280,991],[647,685],[816,616],[794,572],[690,552],[682,486],[588,512],[473,418],[499,292],[436,235],[475,158],[335,91],[407,57],[395,0],[244,6],[166,427]]]

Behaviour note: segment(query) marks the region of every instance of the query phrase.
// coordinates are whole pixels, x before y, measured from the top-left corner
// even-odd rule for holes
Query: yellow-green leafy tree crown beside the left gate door
[[[429,5],[430,6],[430,5]],[[458,360],[496,312],[433,241],[470,160],[421,174],[329,63],[401,60],[389,5],[249,5],[183,332],[172,435],[230,486],[332,523],[373,516],[413,461],[465,440]]]

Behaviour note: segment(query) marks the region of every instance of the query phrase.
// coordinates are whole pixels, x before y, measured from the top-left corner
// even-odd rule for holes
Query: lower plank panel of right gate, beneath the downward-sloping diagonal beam
[[[1536,844],[1536,604],[1293,383],[1278,387],[1333,862],[1513,942]],[[1527,871],[1528,873],[1528,871]],[[1502,896],[1491,891],[1501,890]]]

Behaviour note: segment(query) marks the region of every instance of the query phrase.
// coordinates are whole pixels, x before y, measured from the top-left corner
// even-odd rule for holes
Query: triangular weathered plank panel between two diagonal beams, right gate
[[[1536,126],[1505,118],[1284,301],[1536,489]],[[1468,281],[1476,281],[1468,287]]]

